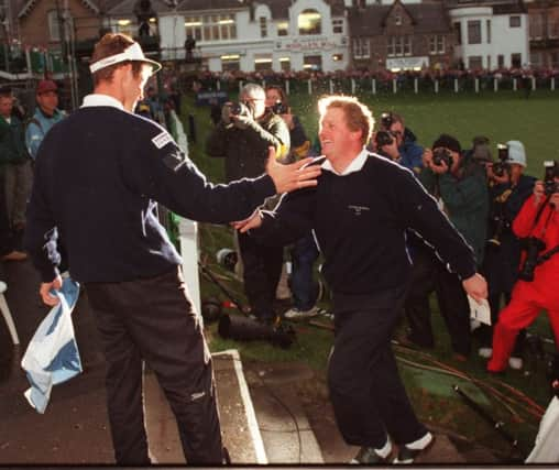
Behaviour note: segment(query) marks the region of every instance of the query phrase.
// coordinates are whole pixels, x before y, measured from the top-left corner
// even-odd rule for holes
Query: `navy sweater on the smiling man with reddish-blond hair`
[[[286,244],[310,229],[335,293],[366,295],[407,283],[406,229],[432,244],[461,278],[475,273],[472,249],[414,174],[377,155],[344,176],[324,171],[316,188],[285,195],[274,212],[264,212],[253,233]]]

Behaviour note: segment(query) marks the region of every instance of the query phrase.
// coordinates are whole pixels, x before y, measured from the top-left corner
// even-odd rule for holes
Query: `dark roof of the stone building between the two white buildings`
[[[384,33],[392,6],[374,4],[348,9],[348,22],[354,37],[376,36]],[[442,3],[406,3],[404,10],[412,17],[415,33],[449,32],[450,22]]]

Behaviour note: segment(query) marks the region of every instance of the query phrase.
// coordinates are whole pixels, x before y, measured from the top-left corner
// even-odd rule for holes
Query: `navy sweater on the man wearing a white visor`
[[[246,218],[274,194],[267,175],[208,183],[147,119],[110,106],[80,108],[48,132],[39,151],[25,248],[45,282],[57,274],[55,227],[77,281],[152,277],[182,262],[155,201],[183,217],[220,223]]]

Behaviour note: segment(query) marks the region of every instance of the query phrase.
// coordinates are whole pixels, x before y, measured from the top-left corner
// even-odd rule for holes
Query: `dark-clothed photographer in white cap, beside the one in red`
[[[483,274],[489,284],[491,324],[481,325],[479,354],[490,358],[493,325],[497,321],[501,297],[511,302],[511,292],[516,282],[517,266],[520,262],[520,241],[513,232],[513,220],[523,204],[531,195],[536,178],[524,175],[526,152],[519,141],[508,141],[498,145],[498,162],[487,165],[490,182],[490,218],[487,243],[483,262]],[[511,358],[514,369],[522,368],[520,345]]]

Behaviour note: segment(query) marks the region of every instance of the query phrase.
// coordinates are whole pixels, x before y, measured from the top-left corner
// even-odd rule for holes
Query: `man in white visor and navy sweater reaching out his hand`
[[[55,125],[37,154],[25,245],[40,294],[61,287],[58,233],[73,278],[85,284],[107,360],[107,402],[119,466],[151,462],[142,371],[156,373],[190,464],[223,461],[211,359],[201,317],[183,281],[182,259],[155,207],[215,223],[242,220],[268,196],[316,185],[306,162],[212,185],[161,125],[132,113],[161,68],[138,43],[106,34],[92,54],[95,92]]]

